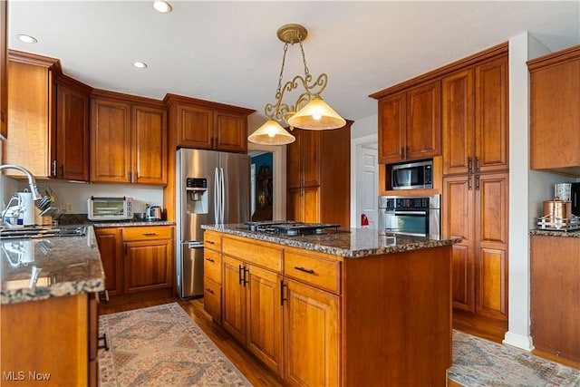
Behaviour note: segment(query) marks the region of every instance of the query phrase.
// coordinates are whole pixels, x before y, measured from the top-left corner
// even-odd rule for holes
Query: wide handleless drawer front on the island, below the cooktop
[[[253,239],[222,237],[222,252],[276,273],[282,273],[282,247]]]

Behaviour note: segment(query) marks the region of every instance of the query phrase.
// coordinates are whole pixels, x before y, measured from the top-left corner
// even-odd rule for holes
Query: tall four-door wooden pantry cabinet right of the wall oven
[[[442,237],[453,246],[453,306],[507,321],[507,44],[442,81]]]

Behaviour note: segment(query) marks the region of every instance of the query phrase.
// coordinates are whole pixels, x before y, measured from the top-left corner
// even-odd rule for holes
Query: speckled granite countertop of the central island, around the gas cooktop
[[[388,253],[418,250],[420,248],[448,246],[461,241],[460,238],[430,239],[428,237],[411,237],[396,235],[387,237],[379,235],[377,230],[368,228],[339,229],[337,233],[328,232],[319,235],[286,237],[249,231],[247,225],[230,224],[223,226],[203,225],[207,230],[223,232],[238,237],[272,242],[279,245],[304,248],[306,250],[356,258]]]

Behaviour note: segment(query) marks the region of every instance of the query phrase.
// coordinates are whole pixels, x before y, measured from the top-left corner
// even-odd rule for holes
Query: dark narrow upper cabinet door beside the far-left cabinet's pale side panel
[[[56,177],[89,180],[89,94],[56,82]]]

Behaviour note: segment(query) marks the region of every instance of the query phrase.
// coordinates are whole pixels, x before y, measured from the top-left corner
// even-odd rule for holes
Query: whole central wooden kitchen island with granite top
[[[286,384],[446,385],[459,239],[203,228],[206,310]]]

